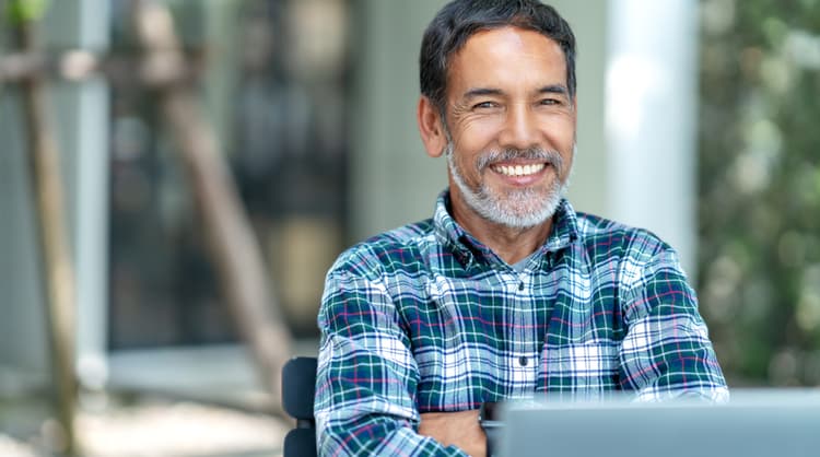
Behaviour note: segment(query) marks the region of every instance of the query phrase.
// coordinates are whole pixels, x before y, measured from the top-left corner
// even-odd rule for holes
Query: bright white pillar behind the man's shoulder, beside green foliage
[[[698,3],[610,0],[606,126],[611,216],[695,268]]]

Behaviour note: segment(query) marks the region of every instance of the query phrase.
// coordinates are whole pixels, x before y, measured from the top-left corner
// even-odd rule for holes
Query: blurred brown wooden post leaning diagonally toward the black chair
[[[223,294],[271,394],[272,412],[283,414],[281,371],[291,356],[291,335],[270,292],[261,250],[215,133],[195,93],[179,80],[186,61],[168,10],[155,1],[133,0],[132,5],[147,52],[143,78],[162,86],[162,113],[179,147]]]

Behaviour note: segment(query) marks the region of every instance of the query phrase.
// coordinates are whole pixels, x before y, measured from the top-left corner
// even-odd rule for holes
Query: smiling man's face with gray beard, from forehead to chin
[[[575,119],[555,42],[514,27],[470,37],[447,75],[454,204],[512,227],[551,218],[572,167]]]

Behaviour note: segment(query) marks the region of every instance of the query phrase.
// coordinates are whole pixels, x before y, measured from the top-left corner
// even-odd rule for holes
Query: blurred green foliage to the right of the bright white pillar
[[[703,314],[730,384],[820,385],[820,1],[701,7]]]

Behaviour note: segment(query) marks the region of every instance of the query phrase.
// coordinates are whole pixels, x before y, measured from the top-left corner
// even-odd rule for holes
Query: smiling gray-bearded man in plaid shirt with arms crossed
[[[418,122],[446,156],[432,219],[327,276],[321,455],[483,455],[482,402],[727,388],[676,253],[576,213],[575,38],[536,0],[456,0],[421,48]]]

